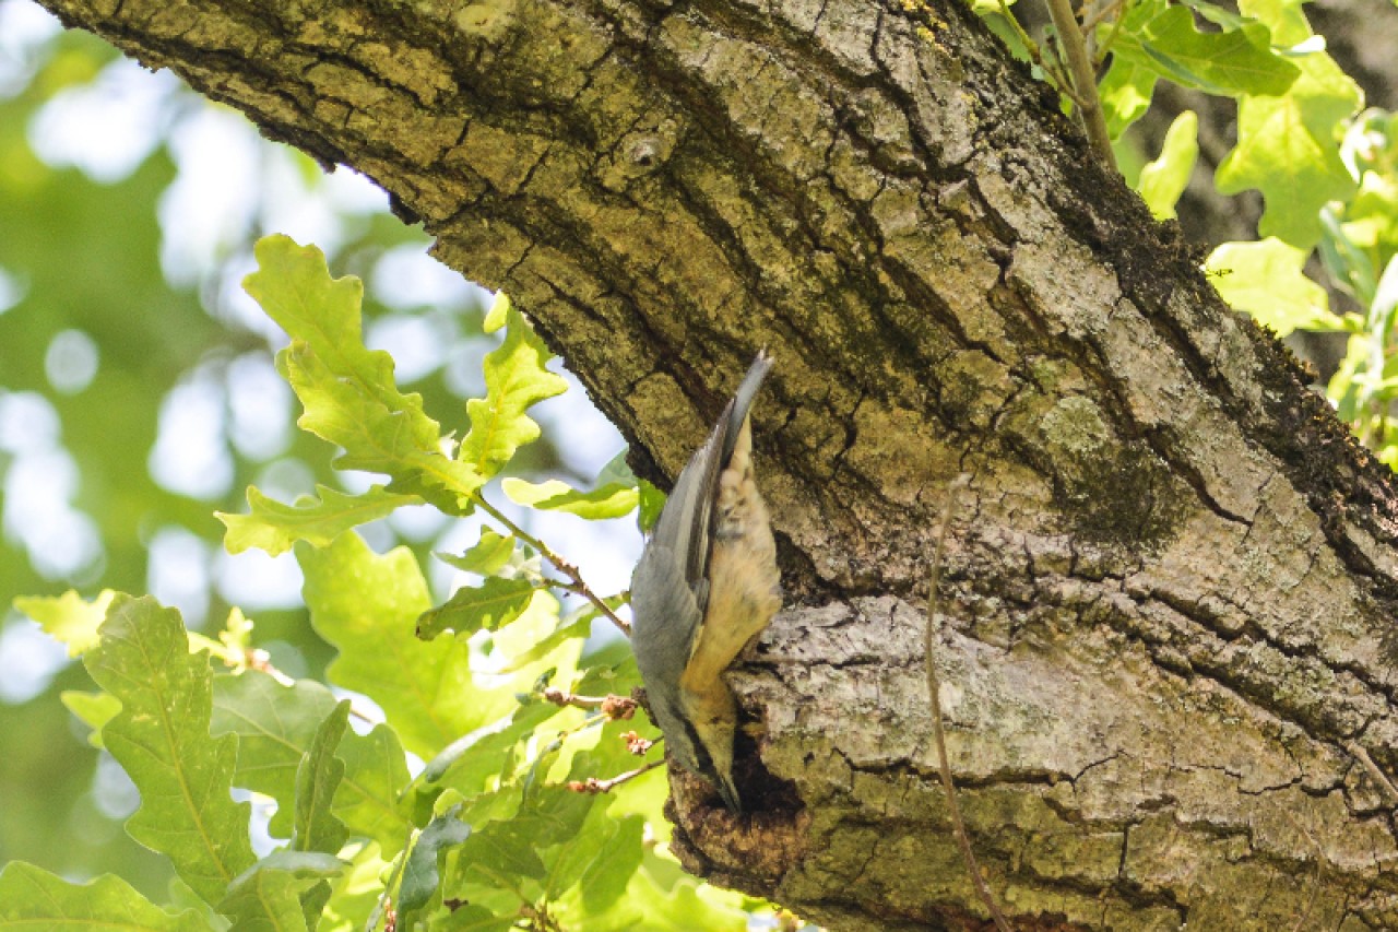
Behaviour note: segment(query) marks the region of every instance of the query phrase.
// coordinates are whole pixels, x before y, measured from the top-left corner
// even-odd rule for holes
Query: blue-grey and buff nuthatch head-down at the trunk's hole
[[[752,479],[748,411],[772,368],[759,353],[675,480],[630,578],[632,648],[670,754],[734,813],[738,707],[723,672],[781,607],[776,543]]]

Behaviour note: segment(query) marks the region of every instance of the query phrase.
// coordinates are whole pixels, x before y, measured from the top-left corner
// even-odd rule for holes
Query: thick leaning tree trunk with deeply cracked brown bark
[[[1394,928],[1387,476],[955,1],[45,0],[370,175],[674,476],[762,344],[768,812],[692,869],[835,928]],[[762,772],[765,768],[772,779]],[[786,781],[781,784],[780,781]]]

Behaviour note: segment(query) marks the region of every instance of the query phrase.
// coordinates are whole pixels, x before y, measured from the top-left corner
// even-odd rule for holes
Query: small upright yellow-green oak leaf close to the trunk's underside
[[[568,390],[563,376],[544,368],[552,355],[503,294],[487,315],[487,332],[502,322],[505,341],[485,357],[485,397],[466,403],[471,431],[457,452],[459,460],[485,477],[500,472],[520,446],[538,439],[538,424],[524,411]]]

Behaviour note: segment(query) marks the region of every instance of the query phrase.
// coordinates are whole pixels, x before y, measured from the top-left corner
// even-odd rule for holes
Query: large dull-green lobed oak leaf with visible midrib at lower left
[[[238,739],[208,732],[208,656],[190,654],[179,613],[151,598],[116,596],[101,634],[84,663],[122,702],[102,743],[141,793],[126,830],[212,905],[254,858],[249,806],[229,796]]]

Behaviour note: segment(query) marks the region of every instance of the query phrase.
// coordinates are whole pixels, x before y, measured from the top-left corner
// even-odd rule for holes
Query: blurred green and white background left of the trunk
[[[212,516],[246,511],[249,484],[291,501],[317,481],[372,481],[331,470],[334,451],[295,430],[273,365],[285,336],[239,285],[270,232],[319,245],[333,274],[365,281],[366,343],[464,434],[464,399],[484,392],[481,360],[498,341],[481,333],[491,294],[431,259],[429,238],[391,217],[382,190],[324,175],[31,0],[0,0],[0,865],[116,872],[155,897],[169,882],[164,859],[122,830],[134,788],[60,702],[92,689],[87,673],[15,596],[151,593],[204,630],[239,606],[281,670],[319,676],[330,659],[289,554],[231,557]],[[516,474],[587,486],[624,448],[569,379],[535,409],[544,439]],[[633,521],[493,498],[597,591],[626,586]],[[419,508],[362,533],[380,551],[412,547],[445,598],[459,579],[431,551],[460,553],[478,526]]]

